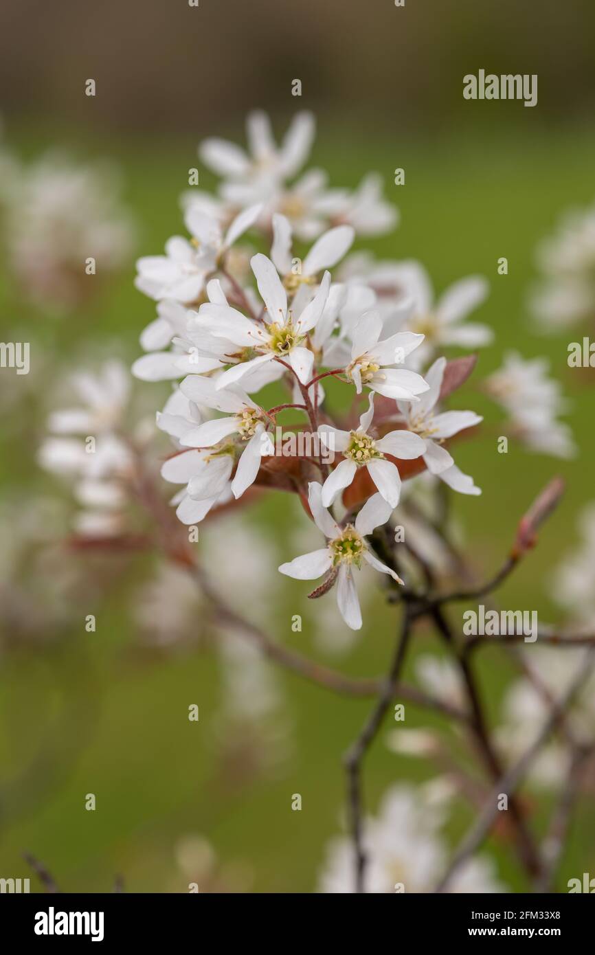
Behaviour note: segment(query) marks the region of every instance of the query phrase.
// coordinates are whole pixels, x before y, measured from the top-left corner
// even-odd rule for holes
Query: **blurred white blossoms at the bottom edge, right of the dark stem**
[[[384,796],[377,817],[366,820],[364,849],[368,857],[366,892],[423,892],[436,889],[447,861],[440,834],[441,808],[426,787],[393,786]],[[325,893],[355,892],[352,840],[335,838],[329,844],[320,878]],[[473,881],[470,876],[473,875]],[[497,893],[491,860],[472,857],[448,886],[450,893]]]

